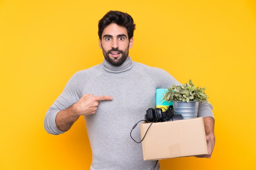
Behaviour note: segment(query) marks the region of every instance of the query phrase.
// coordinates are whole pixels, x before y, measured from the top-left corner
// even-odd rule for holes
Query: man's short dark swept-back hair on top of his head
[[[103,30],[111,23],[115,23],[120,26],[124,26],[127,29],[128,39],[130,40],[133,37],[133,32],[135,30],[135,24],[132,17],[128,13],[123,13],[121,11],[109,11],[104,15],[98,24],[98,35],[101,39]]]

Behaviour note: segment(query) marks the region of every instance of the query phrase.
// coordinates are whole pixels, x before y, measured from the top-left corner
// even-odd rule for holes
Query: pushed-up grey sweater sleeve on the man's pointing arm
[[[84,79],[85,78],[83,74],[79,72],[74,74],[65,85],[65,88],[61,95],[58,96],[58,98],[54,101],[52,106],[46,112],[44,126],[45,130],[49,134],[59,135],[61,133],[64,133],[63,131],[60,131],[56,126],[56,115],[59,111],[70,107],[81,98],[84,87]]]

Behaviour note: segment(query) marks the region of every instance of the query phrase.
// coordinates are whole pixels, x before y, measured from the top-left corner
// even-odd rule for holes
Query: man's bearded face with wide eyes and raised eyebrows
[[[129,41],[127,29],[115,23],[106,26],[101,39],[99,39],[99,47],[102,49],[105,59],[115,66],[124,63],[132,45],[133,38]]]

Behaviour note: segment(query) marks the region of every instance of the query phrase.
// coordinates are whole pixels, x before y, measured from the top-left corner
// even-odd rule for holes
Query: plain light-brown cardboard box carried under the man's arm
[[[151,123],[141,123],[141,139]],[[142,141],[144,160],[207,154],[203,118],[153,123]]]

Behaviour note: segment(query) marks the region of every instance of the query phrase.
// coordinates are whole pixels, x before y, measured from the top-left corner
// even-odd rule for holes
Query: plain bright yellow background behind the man
[[[207,87],[213,105],[211,159],[161,170],[256,169],[255,0],[0,0],[0,169],[89,169],[83,118],[58,136],[43,122],[68,79],[102,62],[97,24],[109,10],[135,20],[133,61]]]

